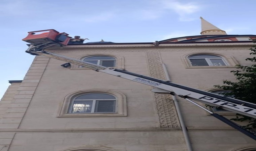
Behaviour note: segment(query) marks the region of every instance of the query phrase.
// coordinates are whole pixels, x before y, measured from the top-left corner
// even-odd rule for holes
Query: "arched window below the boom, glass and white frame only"
[[[69,113],[116,113],[116,97],[103,93],[80,95],[71,101]]]

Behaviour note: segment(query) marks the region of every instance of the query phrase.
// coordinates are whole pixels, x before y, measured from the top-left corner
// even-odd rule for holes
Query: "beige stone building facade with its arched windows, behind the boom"
[[[155,43],[71,44],[49,52],[215,91],[213,86],[223,80],[235,80],[230,71],[236,64],[248,65],[252,43],[244,39],[253,37],[204,34]],[[85,67],[64,68],[63,63],[36,56],[24,80],[10,81],[0,101],[1,151],[188,150],[170,95]],[[178,101],[193,151],[256,150],[253,139],[186,100]]]

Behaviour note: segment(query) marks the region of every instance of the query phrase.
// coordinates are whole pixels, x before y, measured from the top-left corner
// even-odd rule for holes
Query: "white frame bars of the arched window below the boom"
[[[102,93],[104,94],[104,93]],[[83,94],[86,95],[86,94]],[[112,95],[113,96],[113,95]],[[113,96],[114,97],[114,96]],[[76,97],[77,98],[77,97]],[[116,98],[116,97],[115,97]],[[95,112],[95,106],[96,106],[96,101],[115,101],[115,112]],[[91,114],[91,113],[116,113],[117,112],[117,99],[81,99],[81,100],[76,100],[73,99],[72,102],[70,103],[70,107],[69,107],[69,113],[71,114],[77,114],[77,113],[73,113],[73,106],[74,106],[74,101],[93,101],[92,103],[92,112],[90,113],[84,113],[84,112],[80,112],[79,114]]]

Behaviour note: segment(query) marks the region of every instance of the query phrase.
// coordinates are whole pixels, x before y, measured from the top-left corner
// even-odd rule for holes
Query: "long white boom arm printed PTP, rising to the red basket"
[[[81,60],[69,58],[69,57],[54,54],[51,52],[35,51],[32,53],[47,56],[50,58],[62,60],[65,62],[77,64],[77,65],[82,65],[84,67],[91,68],[95,71],[108,73],[111,75],[115,75],[117,77],[121,77],[124,79],[128,79],[131,81],[139,82],[142,84],[146,84],[149,86],[153,86],[153,87],[162,89],[166,92],[169,92],[169,94],[171,94],[171,95],[177,95],[177,96],[180,96],[185,99],[192,99],[192,100],[202,102],[205,104],[209,104],[209,105],[212,105],[215,107],[221,107],[225,110],[229,110],[229,111],[232,111],[235,113],[239,113],[242,115],[256,118],[256,105],[253,103],[249,103],[249,102],[221,96],[218,94],[214,94],[211,92],[206,92],[206,91],[182,86],[179,84],[174,84],[169,81],[162,81],[159,79],[146,77],[146,76],[139,75],[136,73],[128,72],[126,70],[120,70],[120,69],[116,69],[116,68],[112,68],[112,67],[104,67],[104,66],[84,62]]]

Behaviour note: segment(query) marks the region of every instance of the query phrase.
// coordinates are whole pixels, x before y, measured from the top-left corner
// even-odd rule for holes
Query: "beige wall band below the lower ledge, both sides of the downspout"
[[[231,151],[255,145],[253,140],[243,138],[234,131],[201,131],[190,132],[190,135],[195,151]],[[95,151],[102,148],[109,149],[107,151],[186,151],[181,131],[22,132],[15,134],[9,151],[66,151],[75,148],[95,148]]]

